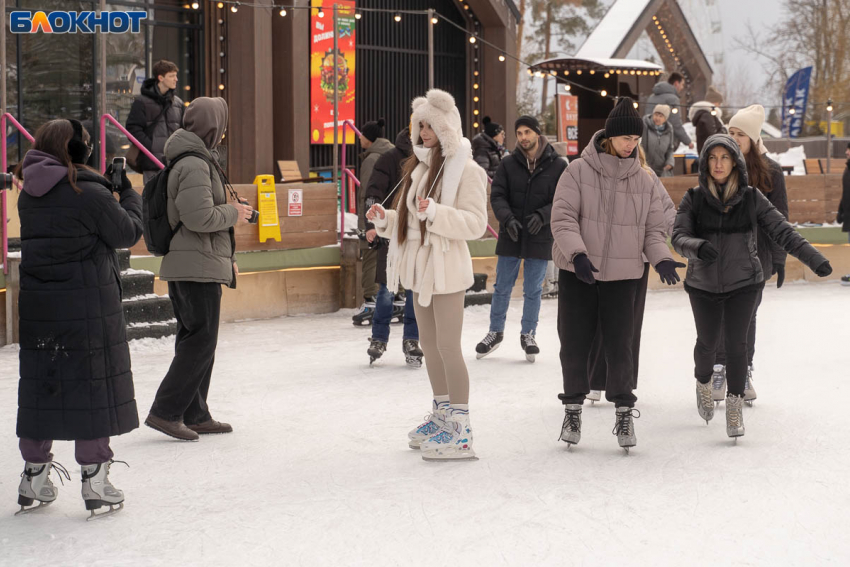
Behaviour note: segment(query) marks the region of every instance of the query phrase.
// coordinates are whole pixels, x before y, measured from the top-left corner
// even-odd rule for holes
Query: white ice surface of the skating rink
[[[369,368],[351,311],[227,324],[210,402],[235,432],[186,443],[142,426],[115,438],[131,465],[111,475],[126,508],[89,523],[67,442],[54,447],[73,473],[59,500],[12,516],[18,355],[0,349],[0,565],[850,564],[850,289],[767,289],[759,399],[737,446],[722,406],[708,426],[697,416],[686,294],[650,292],[628,456],[607,403],[585,406],[572,451],[556,441],[556,302],[543,304],[534,365],[519,347],[520,301],[506,343],[475,360],[488,313],[467,310],[464,332],[479,461],[425,463],[407,448],[430,390],[424,369],[404,367],[399,326],[385,364]],[[133,344],[142,419],[172,345]]]

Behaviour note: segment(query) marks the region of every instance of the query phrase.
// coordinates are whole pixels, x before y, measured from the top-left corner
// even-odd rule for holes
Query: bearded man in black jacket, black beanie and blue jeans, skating
[[[496,244],[496,284],[490,306],[490,332],[475,347],[477,358],[493,352],[502,342],[511,292],[523,266],[523,312],[520,345],[534,362],[540,352],[535,341],[540,296],[546,267],[552,259],[549,219],[555,187],[567,168],[540,133],[532,116],[521,116],[515,125],[517,149],[502,160],[490,193],[493,213],[499,220]]]

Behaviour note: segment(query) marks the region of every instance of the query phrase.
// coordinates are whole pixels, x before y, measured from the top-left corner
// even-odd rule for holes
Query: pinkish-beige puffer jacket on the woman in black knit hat
[[[643,276],[646,258],[653,266],[672,260],[657,178],[640,165],[637,148],[621,159],[602,150],[605,131],[593,135],[581,158],[561,175],[552,207],[552,259],[575,271],[573,259],[586,254],[600,281]]]

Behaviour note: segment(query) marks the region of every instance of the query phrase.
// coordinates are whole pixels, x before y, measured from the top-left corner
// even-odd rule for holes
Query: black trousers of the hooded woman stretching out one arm
[[[694,376],[703,384],[711,380],[717,347],[726,340],[726,381],[728,391],[744,395],[747,376],[747,333],[756,310],[760,289],[729,295],[689,293],[697,344],[694,347]]]

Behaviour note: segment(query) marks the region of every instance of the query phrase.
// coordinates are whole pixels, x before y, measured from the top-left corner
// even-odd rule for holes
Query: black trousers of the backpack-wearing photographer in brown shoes
[[[187,425],[203,423],[211,418],[207,394],[218,343],[221,284],[168,282],[168,295],[177,318],[177,339],[151,413]]]

